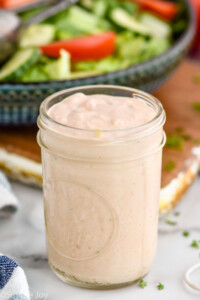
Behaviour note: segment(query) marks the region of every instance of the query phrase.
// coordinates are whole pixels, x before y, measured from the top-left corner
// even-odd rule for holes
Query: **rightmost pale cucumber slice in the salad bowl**
[[[153,37],[167,39],[171,36],[172,28],[169,23],[157,18],[150,13],[141,14],[140,21],[143,26],[148,27]]]

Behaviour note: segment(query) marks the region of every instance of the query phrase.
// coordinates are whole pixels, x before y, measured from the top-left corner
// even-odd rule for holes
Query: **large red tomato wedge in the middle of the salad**
[[[71,54],[74,61],[98,60],[113,54],[116,34],[112,31],[97,35],[77,37],[71,40],[54,42],[41,46],[41,51],[51,57],[59,57],[64,49]]]

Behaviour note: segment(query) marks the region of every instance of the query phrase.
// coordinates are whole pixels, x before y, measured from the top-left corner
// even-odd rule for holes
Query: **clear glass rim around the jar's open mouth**
[[[106,133],[114,133],[114,132],[115,133],[116,132],[123,133],[123,132],[129,132],[129,131],[131,131],[131,133],[139,133],[139,132],[144,133],[144,132],[151,131],[152,128],[155,128],[155,127],[157,128],[157,127],[163,126],[163,124],[166,121],[166,114],[165,114],[165,111],[164,111],[164,108],[163,108],[161,102],[151,94],[148,94],[146,92],[143,92],[138,89],[131,88],[131,87],[123,87],[123,86],[118,86],[118,85],[88,85],[88,86],[73,87],[70,89],[61,90],[61,91],[54,93],[54,94],[50,95],[49,97],[47,97],[40,106],[40,117],[38,120],[39,127],[40,127],[40,119],[44,118],[44,120],[46,120],[56,126],[60,126],[60,128],[68,128],[70,130],[75,130],[75,131],[80,131],[80,132],[95,133],[96,132],[95,129],[77,128],[77,127],[72,127],[72,126],[69,126],[66,124],[59,123],[50,117],[50,115],[47,113],[47,109],[46,109],[47,104],[51,100],[53,100],[55,97],[62,96],[63,94],[66,94],[66,93],[78,93],[80,90],[81,90],[81,92],[84,93],[84,90],[88,91],[90,89],[102,89],[102,90],[115,89],[115,90],[119,90],[122,92],[123,91],[130,92],[130,93],[132,93],[131,97],[130,96],[124,96],[124,97],[128,97],[130,99],[134,98],[134,99],[138,99],[140,101],[141,100],[146,101],[146,103],[154,105],[154,107],[157,108],[154,118],[142,125],[134,126],[131,128],[123,128],[123,129],[106,129],[106,130],[104,129],[104,130],[100,130],[101,133],[105,133],[105,134]],[[60,100],[60,102],[62,100],[64,100],[64,98],[62,98]]]

